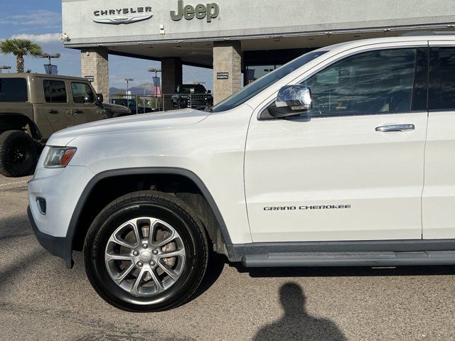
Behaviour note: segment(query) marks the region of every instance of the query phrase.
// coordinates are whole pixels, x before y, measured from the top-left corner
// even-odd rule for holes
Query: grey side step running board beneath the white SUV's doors
[[[455,251],[417,252],[286,252],[249,254],[246,267],[274,266],[417,266],[453,265]]]

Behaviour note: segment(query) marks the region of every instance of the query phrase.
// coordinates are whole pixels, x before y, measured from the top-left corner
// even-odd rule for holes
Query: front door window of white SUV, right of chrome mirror
[[[412,111],[416,58],[417,49],[402,48],[334,63],[305,82],[313,94],[311,117]]]

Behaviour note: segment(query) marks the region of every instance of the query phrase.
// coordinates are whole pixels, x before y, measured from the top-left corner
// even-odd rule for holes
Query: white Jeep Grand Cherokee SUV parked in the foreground
[[[455,36],[358,40],[213,108],[54,134],[39,242],[107,302],[188,301],[211,251],[245,266],[455,264]]]

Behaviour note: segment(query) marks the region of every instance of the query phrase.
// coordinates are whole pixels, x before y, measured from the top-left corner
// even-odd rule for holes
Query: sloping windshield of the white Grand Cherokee
[[[213,107],[213,112],[225,112],[226,110],[234,109],[238,107],[240,104],[245,103],[248,99],[255,97],[259,92],[262,90],[267,89],[270,85],[278,82],[283,77],[289,75],[289,73],[297,70],[299,67],[302,67],[306,63],[311,62],[315,58],[318,58],[320,55],[323,55],[327,51],[314,51],[310,53],[306,53],[299,58],[292,60],[291,62],[283,65],[282,67],[277,68],[267,75],[259,78],[255,82],[252,82],[250,85],[247,85],[242,90],[233,94],[228,99],[225,99],[220,104],[217,104]]]

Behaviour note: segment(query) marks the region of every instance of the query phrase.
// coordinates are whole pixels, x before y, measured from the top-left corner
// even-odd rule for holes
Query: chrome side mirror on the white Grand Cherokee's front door
[[[286,85],[279,90],[275,105],[269,113],[276,119],[309,112],[313,107],[311,90],[305,85]]]

